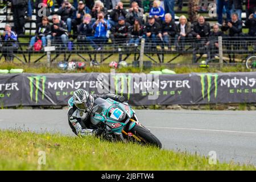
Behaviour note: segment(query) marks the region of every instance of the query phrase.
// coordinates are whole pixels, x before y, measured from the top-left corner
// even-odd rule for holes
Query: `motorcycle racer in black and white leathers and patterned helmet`
[[[68,123],[73,133],[79,136],[100,135],[102,129],[90,129],[90,113],[96,98],[111,98],[118,102],[124,102],[125,97],[115,94],[89,94],[84,89],[77,89],[73,92],[73,97],[68,100]]]

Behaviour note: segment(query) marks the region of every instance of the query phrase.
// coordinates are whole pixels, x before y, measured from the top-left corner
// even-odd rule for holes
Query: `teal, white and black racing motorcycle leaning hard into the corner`
[[[100,127],[102,137],[108,140],[137,142],[162,148],[158,138],[139,123],[135,111],[127,102],[117,102],[111,98],[96,98],[90,114],[93,128]]]

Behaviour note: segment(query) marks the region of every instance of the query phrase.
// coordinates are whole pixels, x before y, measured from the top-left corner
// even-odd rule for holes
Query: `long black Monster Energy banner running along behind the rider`
[[[131,105],[251,103],[256,102],[256,72],[0,75],[0,105],[67,105],[79,88],[90,94],[123,95]]]

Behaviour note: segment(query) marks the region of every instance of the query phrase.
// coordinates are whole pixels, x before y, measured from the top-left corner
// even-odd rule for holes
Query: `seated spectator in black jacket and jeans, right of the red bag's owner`
[[[53,40],[58,41],[61,40],[63,46],[67,48],[68,43],[68,30],[67,25],[63,20],[59,19],[58,15],[52,15],[52,26],[51,26],[51,34],[46,36],[47,41]]]

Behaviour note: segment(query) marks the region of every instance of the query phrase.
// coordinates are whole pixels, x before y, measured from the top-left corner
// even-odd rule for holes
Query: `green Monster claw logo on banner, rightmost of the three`
[[[217,97],[217,90],[218,90],[218,75],[217,74],[203,74],[200,75],[201,77],[201,93],[203,98],[205,98],[205,76],[207,78],[207,98],[208,102],[210,102],[210,91],[212,90],[212,85],[214,84],[214,98]],[[214,78],[214,80],[212,79]]]

